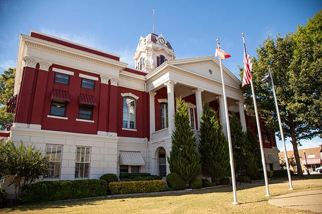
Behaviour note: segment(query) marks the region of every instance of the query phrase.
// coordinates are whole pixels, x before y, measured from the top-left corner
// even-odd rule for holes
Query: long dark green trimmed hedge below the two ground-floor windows
[[[107,182],[102,179],[42,181],[24,186],[23,203],[79,199],[106,195]]]

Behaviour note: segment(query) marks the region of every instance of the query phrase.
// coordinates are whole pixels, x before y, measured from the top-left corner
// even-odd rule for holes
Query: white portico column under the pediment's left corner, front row
[[[171,135],[172,131],[175,129],[174,127],[174,85],[176,82],[168,81],[164,83],[166,86],[166,91],[168,94],[168,120],[169,120],[169,127],[168,127],[168,134]]]

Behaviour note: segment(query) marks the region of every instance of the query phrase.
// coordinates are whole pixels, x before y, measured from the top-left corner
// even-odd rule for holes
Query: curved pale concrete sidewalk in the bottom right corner
[[[280,195],[270,199],[268,203],[278,207],[309,210],[322,213],[322,190],[295,192],[287,195]]]

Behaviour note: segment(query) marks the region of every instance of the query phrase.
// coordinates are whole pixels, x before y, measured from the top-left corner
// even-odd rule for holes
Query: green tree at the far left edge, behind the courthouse
[[[5,130],[14,119],[13,113],[6,112],[6,101],[13,94],[15,73],[15,68],[8,68],[0,76],[0,130]]]

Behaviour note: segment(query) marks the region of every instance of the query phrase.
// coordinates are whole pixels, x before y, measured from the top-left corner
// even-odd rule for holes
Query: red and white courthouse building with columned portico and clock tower
[[[138,41],[135,68],[120,56],[31,31],[20,35],[10,128],[15,143],[33,143],[54,160],[44,180],[99,178],[105,173],[169,173],[176,99],[188,103],[198,135],[203,104],[226,121],[219,61],[175,59],[162,35]],[[228,109],[243,130],[257,132],[245,109],[241,81],[223,67]],[[263,119],[263,118],[262,118]],[[263,124],[262,124],[263,125]],[[275,136],[262,128],[268,170],[278,170]]]

